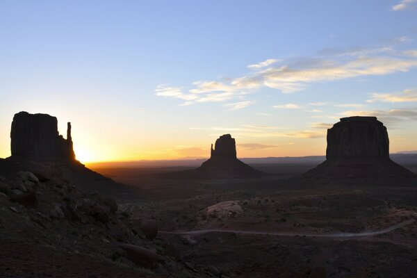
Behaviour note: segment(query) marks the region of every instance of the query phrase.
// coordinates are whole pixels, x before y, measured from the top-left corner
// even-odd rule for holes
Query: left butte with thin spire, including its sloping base
[[[113,195],[122,190],[120,184],[76,161],[70,122],[65,139],[58,133],[56,117],[19,112],[13,117],[10,138],[12,155],[0,158],[0,175],[4,177],[13,179],[17,172],[28,171],[40,181],[63,178],[84,193],[99,190]]]

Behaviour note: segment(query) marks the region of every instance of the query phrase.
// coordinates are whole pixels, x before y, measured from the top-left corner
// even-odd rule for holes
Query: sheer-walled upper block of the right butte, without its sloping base
[[[327,129],[326,158],[389,158],[386,127],[377,117],[343,117]]]

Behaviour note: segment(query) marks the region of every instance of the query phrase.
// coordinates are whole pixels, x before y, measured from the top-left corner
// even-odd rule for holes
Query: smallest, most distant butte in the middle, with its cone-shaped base
[[[211,156],[205,161],[197,172],[208,177],[244,177],[260,175],[261,172],[254,170],[238,160],[236,156],[236,141],[230,134],[224,134],[215,140],[215,146],[211,145]]]

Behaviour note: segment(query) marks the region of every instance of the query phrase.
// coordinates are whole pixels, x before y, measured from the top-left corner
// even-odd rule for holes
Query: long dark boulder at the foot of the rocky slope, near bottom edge
[[[120,247],[126,252],[125,256],[127,259],[143,268],[155,268],[157,262],[165,261],[163,256],[144,247],[131,244],[122,244]]]

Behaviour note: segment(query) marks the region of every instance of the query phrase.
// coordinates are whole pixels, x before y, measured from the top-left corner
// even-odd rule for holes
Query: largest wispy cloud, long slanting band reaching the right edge
[[[401,40],[407,39],[404,37]],[[414,49],[398,52],[391,47],[347,49],[328,51],[326,55],[319,57],[268,59],[249,67],[254,71],[234,79],[195,81],[188,90],[158,85],[155,94],[185,100],[181,105],[231,99],[243,102],[247,101],[245,96],[248,93],[259,88],[268,87],[291,93],[303,90],[313,83],[407,72],[417,67],[417,52]],[[320,106],[325,103],[311,105]]]

